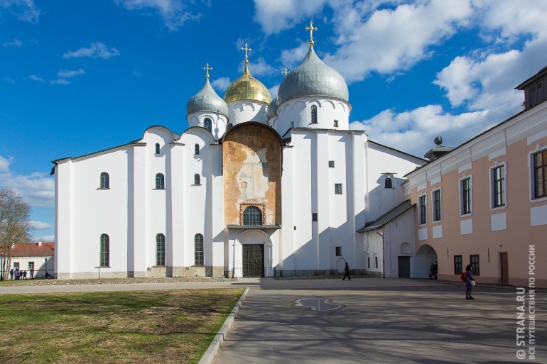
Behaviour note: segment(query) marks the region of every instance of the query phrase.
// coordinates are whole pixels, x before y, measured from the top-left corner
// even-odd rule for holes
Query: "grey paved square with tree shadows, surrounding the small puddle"
[[[259,280],[215,364],[547,363],[547,292],[536,291],[536,360],[516,358],[516,288],[405,279]],[[311,311],[296,299],[342,309]]]

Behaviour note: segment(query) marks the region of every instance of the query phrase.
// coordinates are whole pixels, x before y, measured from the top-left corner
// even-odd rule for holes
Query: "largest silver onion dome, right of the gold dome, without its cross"
[[[283,78],[278,91],[278,102],[305,96],[335,97],[349,102],[350,93],[344,77],[319,59],[310,45],[310,51],[298,67]]]

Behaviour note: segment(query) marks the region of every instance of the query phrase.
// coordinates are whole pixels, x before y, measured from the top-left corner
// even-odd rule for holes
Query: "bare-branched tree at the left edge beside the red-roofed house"
[[[31,206],[15,190],[0,188],[0,254],[4,255],[4,280],[9,275],[11,250],[15,243],[31,241]]]

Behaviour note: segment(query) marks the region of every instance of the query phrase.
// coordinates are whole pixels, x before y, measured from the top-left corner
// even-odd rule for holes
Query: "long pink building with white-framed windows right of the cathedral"
[[[412,277],[547,287],[547,67],[516,87],[524,110],[457,148],[441,140],[408,173],[416,204]],[[531,253],[532,252],[532,253]],[[529,261],[536,261],[533,275]]]

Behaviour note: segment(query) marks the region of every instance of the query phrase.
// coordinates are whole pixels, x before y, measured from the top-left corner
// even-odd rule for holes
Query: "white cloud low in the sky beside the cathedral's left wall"
[[[31,207],[55,206],[55,180],[49,173],[34,172],[30,175],[18,175],[10,169],[13,158],[0,155],[0,186],[15,189],[23,201]]]

